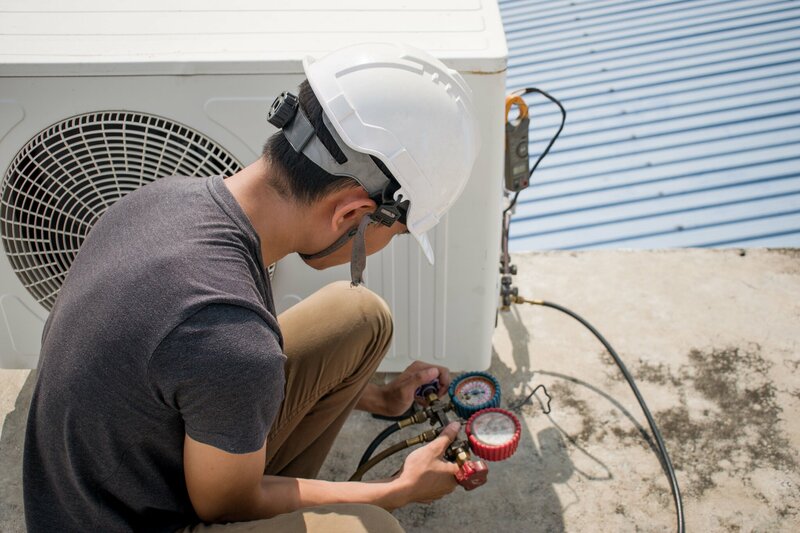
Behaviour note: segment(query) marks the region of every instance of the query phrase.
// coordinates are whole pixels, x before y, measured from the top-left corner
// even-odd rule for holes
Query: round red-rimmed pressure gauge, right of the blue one
[[[470,448],[478,457],[504,461],[517,451],[522,427],[509,411],[491,407],[472,415],[465,431]]]

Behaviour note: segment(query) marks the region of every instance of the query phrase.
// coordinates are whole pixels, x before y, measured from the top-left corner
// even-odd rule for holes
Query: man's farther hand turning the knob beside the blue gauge
[[[450,371],[443,366],[414,361],[391,383],[383,387],[367,385],[356,408],[384,416],[402,415],[414,403],[416,390],[434,379],[439,380],[439,396],[444,395],[450,386]]]

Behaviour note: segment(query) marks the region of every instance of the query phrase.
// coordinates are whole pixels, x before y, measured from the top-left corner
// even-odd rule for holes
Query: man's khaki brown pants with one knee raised
[[[286,392],[267,437],[265,473],[314,478],[392,338],[386,303],[348,282],[328,285],[278,317]],[[199,525],[191,531],[402,532],[374,505],[310,507],[266,520]]]

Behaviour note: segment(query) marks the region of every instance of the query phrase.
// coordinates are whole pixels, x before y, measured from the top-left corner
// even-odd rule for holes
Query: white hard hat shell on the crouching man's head
[[[426,232],[461,195],[480,149],[472,91],[461,75],[404,44],[367,43],[303,61],[342,141],[380,159],[408,200],[406,225],[433,264]]]

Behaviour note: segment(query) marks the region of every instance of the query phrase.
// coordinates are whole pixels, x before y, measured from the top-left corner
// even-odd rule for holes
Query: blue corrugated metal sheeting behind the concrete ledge
[[[500,9],[509,91],[539,87],[569,113],[512,250],[800,246],[800,2]],[[560,114],[527,100],[535,158]]]

